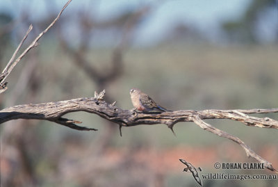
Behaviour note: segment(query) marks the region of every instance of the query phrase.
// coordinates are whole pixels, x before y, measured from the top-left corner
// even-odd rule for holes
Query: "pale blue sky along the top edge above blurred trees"
[[[60,10],[66,0],[0,0],[0,11],[9,11],[13,15],[19,15],[22,6],[31,6],[33,19],[47,17],[45,3],[48,2],[51,9]],[[71,8],[89,8],[92,15],[98,19],[109,19],[119,15],[124,9],[134,9],[146,4],[157,4],[157,8],[138,29],[138,41],[147,43],[160,40],[177,22],[194,25],[201,31],[212,31],[218,34],[220,22],[237,19],[243,15],[251,0],[73,0],[65,13],[70,13]],[[213,32],[214,31],[214,32]]]

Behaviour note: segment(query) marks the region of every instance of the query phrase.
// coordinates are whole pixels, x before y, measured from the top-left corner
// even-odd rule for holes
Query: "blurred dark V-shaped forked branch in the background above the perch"
[[[97,68],[92,65],[90,60],[87,60],[84,55],[84,51],[88,51],[88,42],[90,41],[88,36],[88,33],[94,29],[92,26],[92,23],[95,24],[95,20],[90,19],[87,15],[83,15],[81,17],[81,23],[83,23],[83,42],[82,45],[78,49],[72,49],[70,45],[67,43],[67,41],[62,37],[62,34],[59,34],[60,44],[63,50],[67,51],[67,54],[70,54],[73,58],[73,63],[75,63],[78,67],[81,68],[85,72],[85,74],[88,74],[90,79],[94,80],[95,83],[97,83],[97,87],[101,88],[101,90],[104,88],[104,86],[107,85],[107,83],[110,83],[111,81],[114,81],[122,74],[122,66],[123,66],[123,59],[122,56],[124,54],[124,51],[126,50],[126,47],[131,42],[132,36],[134,35],[136,31],[136,26],[138,25],[138,22],[140,19],[147,15],[147,13],[150,13],[151,6],[144,6],[142,8],[138,8],[134,13],[129,15],[129,18],[126,20],[125,24],[123,25],[122,29],[122,38],[120,38],[120,42],[117,44],[115,49],[113,50],[112,58],[111,58],[111,68],[110,70],[107,70],[104,72],[99,72]],[[126,17],[124,16],[124,19]],[[121,19],[122,20],[122,19]],[[115,20],[113,21],[115,22]],[[112,21],[111,21],[112,23]],[[61,32],[61,31],[60,31]]]

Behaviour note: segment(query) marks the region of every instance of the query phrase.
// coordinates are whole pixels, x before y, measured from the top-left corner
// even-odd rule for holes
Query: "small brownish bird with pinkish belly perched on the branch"
[[[170,112],[170,110],[156,104],[156,102],[149,97],[149,95],[137,88],[131,89],[129,93],[131,95],[132,104],[138,111],[142,111],[143,113],[149,113],[152,111]]]

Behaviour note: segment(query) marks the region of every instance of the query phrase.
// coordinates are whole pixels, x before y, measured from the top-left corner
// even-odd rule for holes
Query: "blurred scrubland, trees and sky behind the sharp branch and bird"
[[[28,26],[21,51],[66,1],[0,1],[0,69]],[[106,89],[106,101],[133,108],[140,88],[172,110],[277,108],[278,1],[72,1],[40,45],[8,76],[1,108],[79,97]],[[256,115],[273,117],[277,114]],[[230,140],[192,122],[123,128],[90,113],[70,113],[99,131],[48,121],[1,124],[1,186],[198,186],[179,158],[200,174],[275,174],[215,170],[215,162],[251,162]],[[275,129],[207,120],[278,168]],[[277,186],[277,180],[203,180],[204,186]]]

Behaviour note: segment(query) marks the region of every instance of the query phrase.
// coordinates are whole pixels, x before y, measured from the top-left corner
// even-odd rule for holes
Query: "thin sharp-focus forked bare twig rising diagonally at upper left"
[[[67,1],[67,3],[65,4],[65,6],[62,8],[62,10],[60,10],[60,13],[58,14],[58,16],[54,19],[53,22],[51,22],[51,24],[49,24],[49,26],[47,26],[47,29],[44,29],[44,31],[42,31],[42,33],[40,33],[38,35],[37,38],[35,38],[35,40],[33,40],[33,42],[22,52],[22,54],[19,55],[19,57],[15,59],[15,56],[17,55],[17,52],[19,51],[19,49],[22,47],[22,44],[24,43],[24,41],[26,40],[28,34],[30,33],[30,31],[33,29],[33,26],[30,25],[28,31],[26,32],[26,34],[24,35],[24,38],[22,39],[22,41],[19,43],[17,49],[15,50],[15,53],[13,54],[12,58],[10,58],[10,61],[8,62],[8,64],[6,65],[5,69],[3,70],[3,72],[0,74],[0,93],[4,92],[7,90],[7,82],[5,82],[6,78],[8,77],[8,75],[10,74],[10,72],[12,72],[13,68],[15,67],[15,65],[17,65],[17,63],[19,63],[20,60],[22,60],[22,58],[24,56],[26,56],[26,54],[28,53],[28,51],[34,47],[38,46],[38,40],[40,40],[40,38],[42,38],[42,35],[44,35],[45,33],[47,33],[47,31],[49,31],[49,29],[54,26],[54,24],[57,22],[57,20],[60,18],[60,15],[63,13],[63,10],[65,10],[65,8],[67,7],[67,5],[71,2],[72,0]]]

